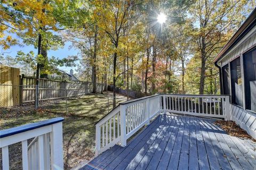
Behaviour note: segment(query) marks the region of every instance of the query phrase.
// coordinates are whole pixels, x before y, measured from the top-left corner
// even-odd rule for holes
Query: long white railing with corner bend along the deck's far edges
[[[160,112],[229,119],[228,95],[156,94],[121,102],[96,126],[96,155],[126,140]]]

